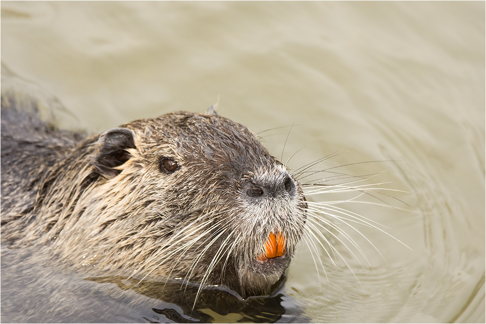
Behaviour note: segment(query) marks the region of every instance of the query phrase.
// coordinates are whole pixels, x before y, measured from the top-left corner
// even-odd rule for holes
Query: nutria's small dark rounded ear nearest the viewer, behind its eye
[[[96,172],[106,178],[113,178],[120,174],[120,170],[113,169],[130,159],[128,148],[136,148],[133,133],[126,128],[114,128],[100,135],[98,143],[103,143],[93,162]]]

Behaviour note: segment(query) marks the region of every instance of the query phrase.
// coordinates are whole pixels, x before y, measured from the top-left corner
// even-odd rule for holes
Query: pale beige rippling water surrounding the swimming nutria
[[[374,197],[338,206],[382,226],[341,223],[363,255],[343,233],[334,259],[304,239],[280,321],[485,322],[484,2],[2,1],[1,45],[2,91],[34,94],[63,127],[101,132],[218,102],[255,133],[275,129],[262,141],[283,162],[298,151],[294,170],[336,152],[317,169],[376,174],[358,183],[379,184]],[[90,297],[86,280],[61,274],[67,299],[106,315],[6,302],[5,276],[28,273],[6,255],[2,322],[165,319],[159,300],[117,299],[130,290],[113,283]],[[44,280],[27,301],[55,286]]]

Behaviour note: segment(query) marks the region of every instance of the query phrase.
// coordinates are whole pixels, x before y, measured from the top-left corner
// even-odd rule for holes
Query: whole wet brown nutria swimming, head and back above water
[[[24,106],[2,97],[2,243],[47,245],[87,273],[180,278],[241,296],[268,294],[283,275],[307,204],[246,127],[210,109],[88,136]]]

